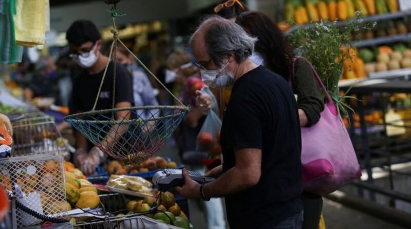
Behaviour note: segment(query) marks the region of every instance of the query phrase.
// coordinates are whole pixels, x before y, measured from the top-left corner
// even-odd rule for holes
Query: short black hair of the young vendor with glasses
[[[96,43],[101,35],[96,25],[89,20],[78,20],[70,25],[66,32],[68,43],[80,46],[88,41]]]

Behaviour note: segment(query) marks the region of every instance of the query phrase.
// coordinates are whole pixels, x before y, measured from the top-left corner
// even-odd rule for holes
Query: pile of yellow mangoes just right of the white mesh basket
[[[97,189],[86,179],[83,173],[74,168],[70,162],[64,162],[66,178],[67,209],[71,210],[71,205],[78,208],[97,208],[100,204],[100,197]]]

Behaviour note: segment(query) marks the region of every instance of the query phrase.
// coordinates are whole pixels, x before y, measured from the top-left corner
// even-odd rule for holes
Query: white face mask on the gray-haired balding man
[[[217,70],[200,69],[201,80],[209,87],[227,87],[234,84],[234,74],[226,71],[229,63]],[[220,74],[221,73],[221,74]]]

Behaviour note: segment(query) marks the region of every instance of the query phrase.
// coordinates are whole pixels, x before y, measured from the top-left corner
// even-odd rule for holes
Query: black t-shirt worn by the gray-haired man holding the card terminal
[[[223,172],[235,166],[234,149],[261,149],[261,177],[250,189],[226,196],[231,228],[260,228],[301,212],[301,131],[287,82],[259,66],[234,84],[222,121]]]

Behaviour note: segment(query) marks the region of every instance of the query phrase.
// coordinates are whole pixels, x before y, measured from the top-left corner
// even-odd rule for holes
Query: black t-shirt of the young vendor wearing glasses
[[[113,108],[113,67],[114,62],[111,61],[101,87],[96,111]],[[73,79],[70,114],[87,112],[93,108],[103,74],[104,70],[97,74],[89,74],[86,69],[83,69]],[[117,104],[119,102],[130,102],[134,105],[132,76],[123,65],[117,63],[115,103]],[[105,116],[110,117],[111,114],[107,113]],[[88,143],[89,148],[92,147],[92,144],[90,142]]]

